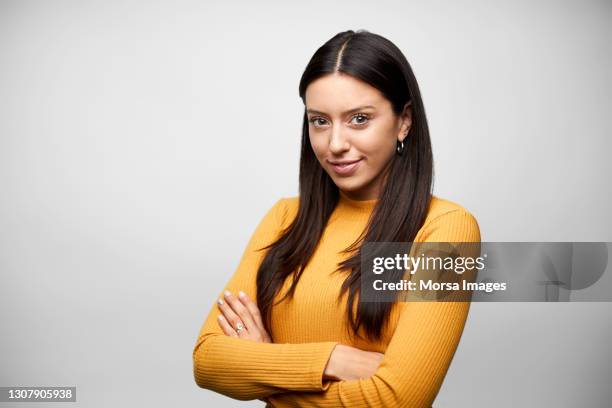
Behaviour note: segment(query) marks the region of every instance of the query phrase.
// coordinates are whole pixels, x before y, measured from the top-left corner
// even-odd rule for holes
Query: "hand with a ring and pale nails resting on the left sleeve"
[[[225,300],[217,300],[217,306],[222,313],[217,318],[217,323],[226,335],[261,343],[272,343],[261,320],[259,308],[251,298],[242,291],[238,296],[234,296],[227,290],[224,297]]]

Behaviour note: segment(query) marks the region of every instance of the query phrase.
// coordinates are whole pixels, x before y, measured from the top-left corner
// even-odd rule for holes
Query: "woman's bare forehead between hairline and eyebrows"
[[[329,74],[314,80],[306,88],[306,108],[339,113],[356,106],[382,108],[387,100],[373,86],[346,74]]]

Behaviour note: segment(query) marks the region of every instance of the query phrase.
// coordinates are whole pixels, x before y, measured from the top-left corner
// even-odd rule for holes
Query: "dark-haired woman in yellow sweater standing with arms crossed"
[[[297,197],[255,230],[193,350],[196,383],[268,407],[429,407],[469,302],[359,302],[360,244],[480,242],[433,196],[425,110],[389,40],[337,34],[302,76]]]

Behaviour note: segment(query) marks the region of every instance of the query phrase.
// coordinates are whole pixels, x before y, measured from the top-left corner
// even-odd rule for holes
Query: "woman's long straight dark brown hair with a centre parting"
[[[396,115],[406,103],[412,107],[412,125],[404,140],[403,155],[394,155],[386,181],[368,224],[359,238],[343,253],[353,255],[340,264],[336,273],[346,273],[340,296],[347,290],[348,327],[369,339],[380,339],[389,321],[393,302],[358,302],[361,282],[362,242],[412,242],[421,228],[432,195],[433,157],[429,129],[421,94],[410,64],[402,52],[386,38],[366,30],[336,34],[321,46],[306,66],[299,94],[306,105],[308,85],[324,75],[342,72],[378,89],[390,102]],[[293,296],[304,268],[312,257],[327,221],[339,200],[339,190],[318,162],[308,135],[304,108],[299,174],[297,216],[272,244],[257,271],[257,304],[268,333],[272,335],[271,311],[285,280],[292,284],[285,295]]]

